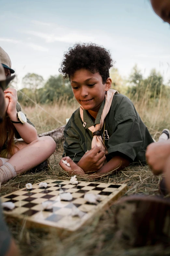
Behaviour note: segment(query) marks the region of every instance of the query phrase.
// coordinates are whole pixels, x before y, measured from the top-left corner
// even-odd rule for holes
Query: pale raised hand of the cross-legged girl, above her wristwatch
[[[7,88],[4,91],[4,97],[5,100],[7,101],[6,98],[9,99],[9,105],[7,107],[7,114],[10,117],[10,119],[12,118],[16,118],[17,115],[17,111],[16,111],[16,105],[17,105],[17,91],[13,88]]]

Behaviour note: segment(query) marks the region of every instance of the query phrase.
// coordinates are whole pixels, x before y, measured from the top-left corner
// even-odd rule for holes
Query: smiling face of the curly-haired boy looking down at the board
[[[106,91],[111,87],[111,79],[107,78],[103,84],[99,73],[80,69],[70,76],[70,81],[74,96],[83,109],[98,112]]]

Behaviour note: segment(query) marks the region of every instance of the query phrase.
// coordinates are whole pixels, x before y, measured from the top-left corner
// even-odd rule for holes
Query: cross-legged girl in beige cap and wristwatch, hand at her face
[[[11,61],[0,47],[1,63],[8,79],[11,79]],[[26,118],[17,102],[17,91],[4,90],[5,112],[0,124],[0,182],[6,182],[17,174],[28,171],[48,159],[56,148],[50,136],[38,138],[34,125]],[[16,139],[22,138],[23,141]]]

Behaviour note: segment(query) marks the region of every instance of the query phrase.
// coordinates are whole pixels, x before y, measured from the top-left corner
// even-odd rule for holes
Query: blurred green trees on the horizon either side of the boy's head
[[[140,99],[147,94],[151,100],[161,97],[169,97],[170,86],[163,83],[163,77],[155,69],[151,70],[148,77],[143,77],[137,65],[134,66],[128,79],[123,79],[118,69],[110,71],[112,88],[119,93],[129,96],[131,99]],[[22,88],[18,92],[18,101],[24,106],[38,104],[50,104],[56,101],[74,100],[69,79],[62,75],[50,76],[45,82],[42,76],[28,73],[22,78]],[[30,101],[30,99],[32,101]]]

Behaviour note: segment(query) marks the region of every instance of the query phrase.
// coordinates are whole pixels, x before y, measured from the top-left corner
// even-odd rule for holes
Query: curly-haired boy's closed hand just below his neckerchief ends
[[[104,165],[105,159],[105,152],[100,151],[100,147],[95,145],[91,150],[84,154],[77,165],[81,167],[85,173],[95,172]]]

